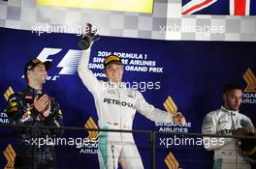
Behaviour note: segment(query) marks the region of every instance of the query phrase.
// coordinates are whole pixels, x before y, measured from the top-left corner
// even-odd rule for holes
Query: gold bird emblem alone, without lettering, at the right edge
[[[242,75],[244,81],[247,83],[246,88],[244,89],[244,92],[256,92],[256,77],[252,70],[248,68]]]

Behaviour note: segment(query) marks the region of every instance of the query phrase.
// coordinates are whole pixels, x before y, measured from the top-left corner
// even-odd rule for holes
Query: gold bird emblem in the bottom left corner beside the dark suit
[[[7,159],[7,164],[5,165],[4,169],[15,169],[15,159],[16,159],[16,152],[11,144],[9,144],[4,151],[4,156]]]

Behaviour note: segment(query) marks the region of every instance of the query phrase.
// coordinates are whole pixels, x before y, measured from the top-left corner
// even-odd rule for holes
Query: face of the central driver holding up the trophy
[[[123,67],[113,63],[105,70],[105,74],[108,76],[109,82],[119,83],[122,81]]]

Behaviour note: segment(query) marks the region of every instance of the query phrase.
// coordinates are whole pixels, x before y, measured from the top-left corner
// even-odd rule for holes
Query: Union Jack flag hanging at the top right
[[[256,0],[182,0],[182,14],[256,15]]]

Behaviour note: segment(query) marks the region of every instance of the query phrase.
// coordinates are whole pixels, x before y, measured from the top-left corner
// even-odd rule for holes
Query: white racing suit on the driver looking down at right
[[[251,120],[239,111],[227,110],[223,106],[209,112],[202,127],[204,134],[232,135],[232,131],[243,127],[253,131]],[[247,158],[241,154],[240,141],[228,137],[204,137],[204,147],[214,150],[213,169],[250,169]]]

